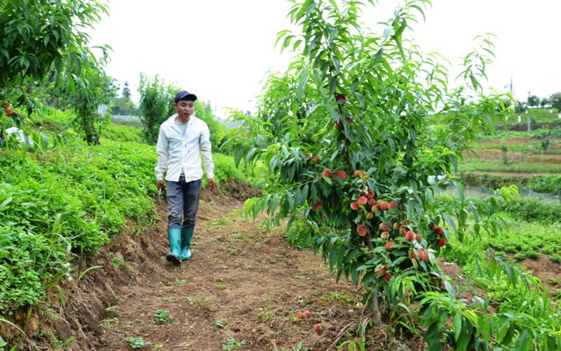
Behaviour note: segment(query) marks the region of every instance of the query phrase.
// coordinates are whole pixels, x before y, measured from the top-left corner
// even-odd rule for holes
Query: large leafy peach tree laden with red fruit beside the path
[[[454,88],[447,60],[405,37],[429,1],[407,1],[381,34],[360,22],[358,1],[292,2],[289,17],[302,32],[282,31],[277,43],[294,60],[268,77],[255,116],[233,117],[241,124],[229,138],[236,164],[268,169],[262,197],[245,209],[266,212],[270,225],[288,219],[292,244],[313,246],[337,279],[363,286],[377,325],[405,325],[408,301],[454,294],[436,261],[454,250],[451,237],[504,225],[453,176],[478,133],[504,119],[501,95],[480,84],[492,42],[477,39]],[[459,197],[443,201],[438,190],[448,185]]]

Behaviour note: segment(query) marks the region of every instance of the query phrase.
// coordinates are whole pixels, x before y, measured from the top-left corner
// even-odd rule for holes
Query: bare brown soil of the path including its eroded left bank
[[[227,350],[242,341],[237,350],[337,350],[360,340],[359,326],[372,315],[357,305],[359,289],[335,282],[320,255],[289,246],[283,227],[245,219],[242,206],[243,199],[204,192],[193,257],[176,266],[165,260],[167,208],[158,202],[154,227],[129,223],[74,279],[60,281],[65,299],[53,294],[50,308],[34,311],[20,347],[51,349],[73,337],[71,350],[132,350],[127,338],[142,337],[144,350],[222,350],[228,340]],[[78,279],[94,266],[102,267]],[[297,311],[311,317],[294,322]],[[25,311],[13,320],[23,325],[23,318]],[[314,331],[316,324],[323,330]],[[369,329],[367,338],[367,350],[426,346],[418,337],[396,340],[386,327]]]

